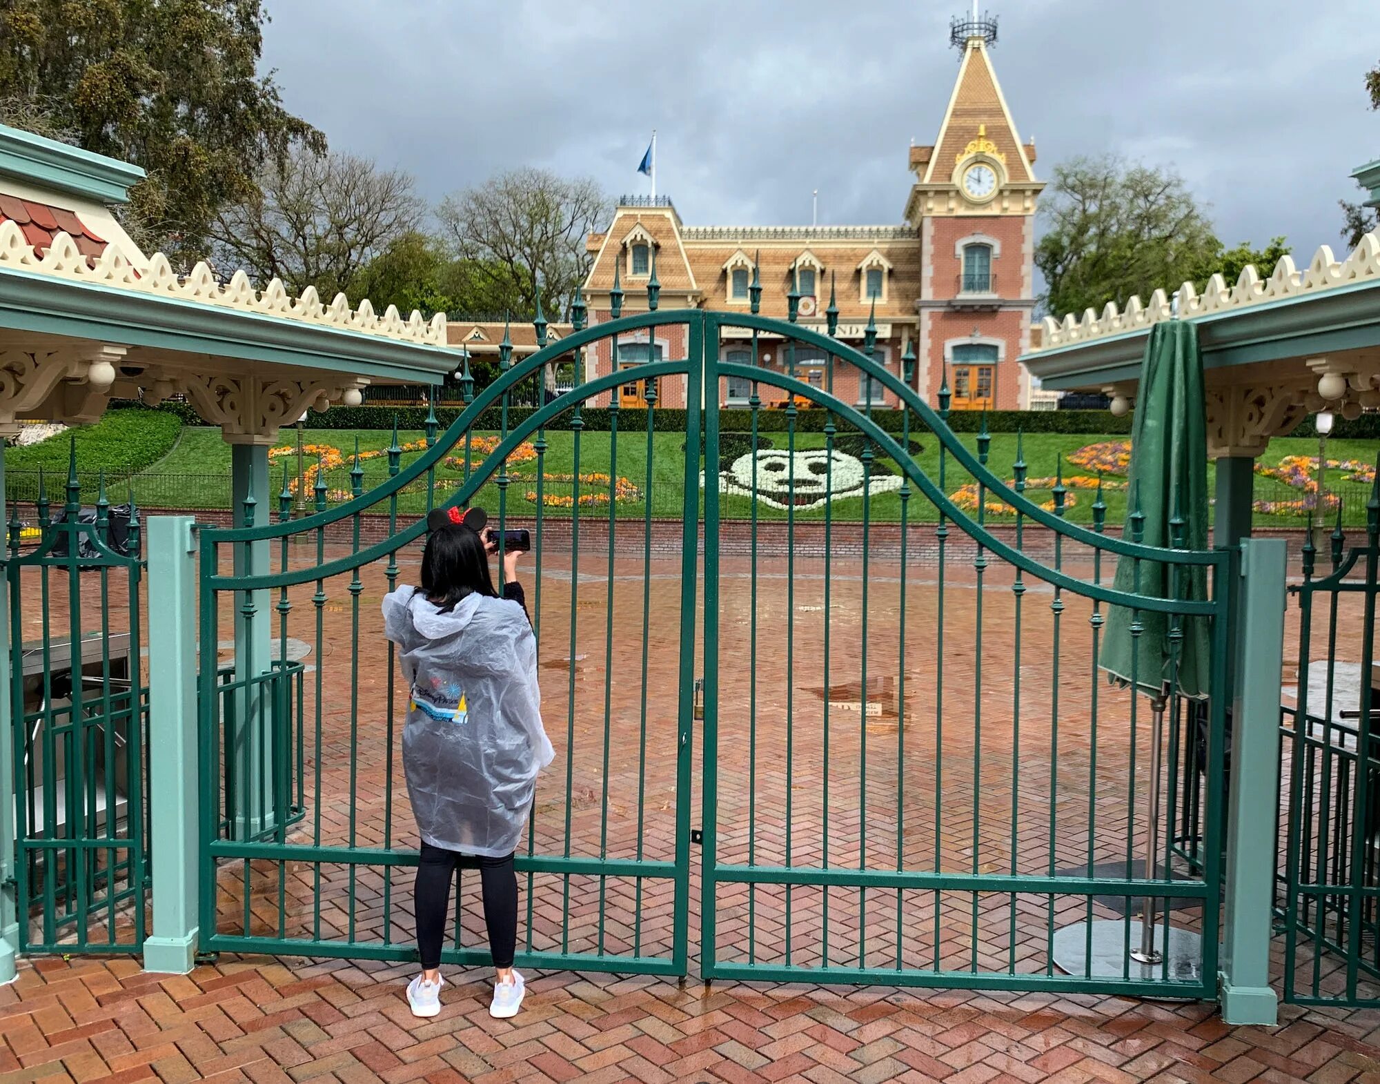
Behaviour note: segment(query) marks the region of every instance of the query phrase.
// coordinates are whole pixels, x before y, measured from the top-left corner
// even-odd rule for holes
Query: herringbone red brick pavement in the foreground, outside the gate
[[[404,971],[224,957],[186,976],[40,960],[0,989],[10,1081],[1136,1081],[1380,1080],[1380,1014],[1285,1008],[1228,1027],[1212,1005],[1056,994],[850,993],[533,975],[515,1021],[455,975],[418,1021]],[[466,981],[466,978],[469,981]]]

